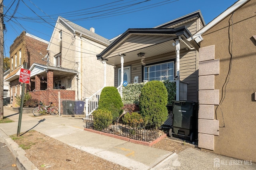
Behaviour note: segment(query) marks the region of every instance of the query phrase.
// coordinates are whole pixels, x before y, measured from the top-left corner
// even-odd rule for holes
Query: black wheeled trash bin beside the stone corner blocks
[[[194,139],[197,125],[195,106],[192,101],[172,101],[173,125],[169,136]]]

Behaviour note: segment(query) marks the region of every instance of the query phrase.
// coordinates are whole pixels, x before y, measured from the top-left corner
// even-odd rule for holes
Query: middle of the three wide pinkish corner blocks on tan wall
[[[199,104],[219,104],[219,90],[199,90],[198,92]]]

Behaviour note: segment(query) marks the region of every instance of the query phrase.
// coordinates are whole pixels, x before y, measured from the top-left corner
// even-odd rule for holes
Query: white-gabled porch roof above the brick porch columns
[[[76,70],[70,70],[67,68],[55,67],[55,66],[46,66],[38,63],[33,63],[29,68],[31,71],[30,78],[33,78],[36,75],[41,75],[47,77],[47,71],[52,70],[54,76],[63,77],[78,74]]]

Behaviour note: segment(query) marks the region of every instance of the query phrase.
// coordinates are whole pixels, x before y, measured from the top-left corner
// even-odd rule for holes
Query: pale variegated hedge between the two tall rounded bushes
[[[144,82],[128,84],[126,87],[123,87],[122,101],[124,104],[139,104],[141,89],[145,84]]]

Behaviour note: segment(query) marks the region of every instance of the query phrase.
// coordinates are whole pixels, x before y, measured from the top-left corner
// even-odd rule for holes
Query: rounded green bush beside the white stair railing
[[[118,90],[115,87],[104,87],[100,94],[98,109],[111,111],[115,121],[122,114],[122,107],[124,104]]]

